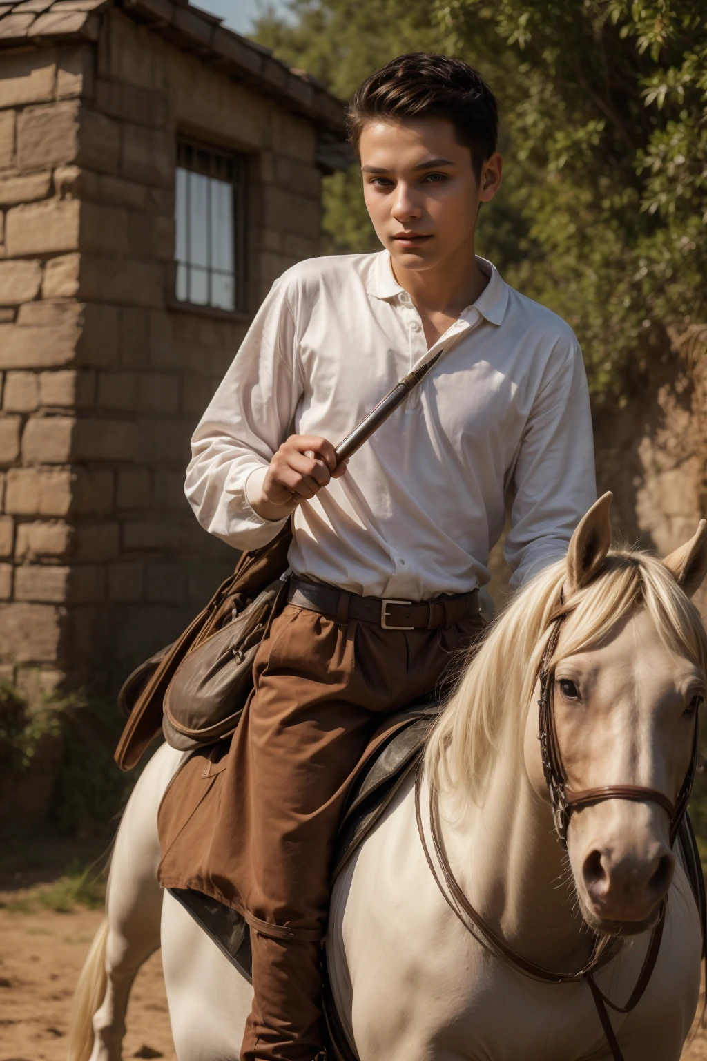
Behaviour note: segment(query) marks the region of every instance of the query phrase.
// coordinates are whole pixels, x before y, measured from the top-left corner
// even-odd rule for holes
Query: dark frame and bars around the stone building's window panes
[[[189,157],[191,153],[191,158]],[[198,164],[198,161],[207,159],[206,164]],[[211,179],[224,180],[218,172],[218,162],[226,167],[231,167],[232,177],[227,178],[231,187],[232,203],[232,241],[233,241],[233,309],[226,309],[222,306],[213,306],[211,302],[191,301],[191,278],[190,266],[194,262],[189,260],[189,238],[190,238],[190,202],[187,205],[187,261],[177,258],[177,170],[185,170],[190,173],[197,173]],[[176,143],[176,164],[175,164],[175,249],[173,259],[173,278],[170,293],[170,307],[190,313],[204,313],[210,316],[230,317],[243,319],[248,314],[248,277],[247,277],[247,192],[248,192],[248,156],[244,152],[233,151],[220,144],[209,143],[189,134],[178,134]],[[211,232],[207,232],[208,245],[210,245]],[[210,251],[208,257],[210,258]],[[178,267],[183,265],[187,271],[187,298],[177,296]],[[204,266],[199,266],[204,267]],[[207,273],[208,293],[211,297],[211,283],[214,272],[213,265],[209,263],[205,271]]]

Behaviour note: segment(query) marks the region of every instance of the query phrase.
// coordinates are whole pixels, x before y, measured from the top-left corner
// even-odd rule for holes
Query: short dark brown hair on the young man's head
[[[477,177],[498,140],[498,101],[463,59],[411,52],[391,59],[360,85],[349,104],[349,140],[359,155],[364,126],[377,120],[446,118],[472,152]]]

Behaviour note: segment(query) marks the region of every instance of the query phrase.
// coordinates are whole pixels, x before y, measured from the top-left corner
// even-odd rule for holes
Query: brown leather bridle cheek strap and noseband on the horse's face
[[[692,782],[697,768],[699,753],[699,715],[695,712],[694,732],[692,736],[692,754],[690,764],[685,775],[685,780],[673,803],[672,800],[658,792],[657,788],[646,788],[642,785],[602,785],[598,788],[584,788],[581,792],[573,792],[567,787],[567,772],[562,761],[560,744],[554,726],[554,668],[550,669],[549,663],[558,647],[560,640],[560,629],[565,618],[570,614],[570,610],[560,608],[550,618],[552,630],[548,638],[543,660],[540,668],[540,707],[537,737],[541,743],[541,756],[543,760],[543,773],[550,793],[552,804],[552,819],[558,837],[563,848],[567,848],[567,830],[572,813],[591,803],[602,803],[609,799],[628,799],[636,802],[657,803],[667,812],[670,818],[670,846],[675,842],[675,837],[685,817],[687,804],[692,792]]]

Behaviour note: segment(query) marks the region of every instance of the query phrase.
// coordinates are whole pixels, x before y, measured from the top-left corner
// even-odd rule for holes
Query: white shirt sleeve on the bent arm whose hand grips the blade
[[[201,526],[235,549],[266,545],[286,523],[259,516],[246,486],[289,433],[301,396],[294,347],[293,312],[278,281],[192,437],[187,499]]]

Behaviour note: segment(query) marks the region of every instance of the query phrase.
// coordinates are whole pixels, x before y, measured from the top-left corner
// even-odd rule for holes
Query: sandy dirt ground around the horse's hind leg
[[[65,1061],[71,995],[101,918],[82,908],[0,909],[0,1061]],[[176,1061],[159,953],[132,989],[123,1058]],[[707,1029],[688,1042],[683,1061],[707,1061]]]

